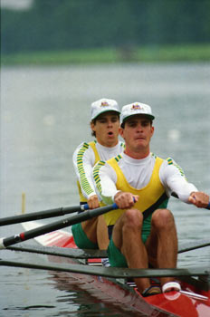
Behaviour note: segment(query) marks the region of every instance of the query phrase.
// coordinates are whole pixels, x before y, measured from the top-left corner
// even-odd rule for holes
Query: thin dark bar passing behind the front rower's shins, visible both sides
[[[210,240],[198,240],[195,242],[185,243],[178,247],[178,254],[196,250],[210,245]],[[108,257],[106,250],[89,250],[89,249],[73,249],[70,247],[59,246],[43,246],[43,245],[22,245],[8,246],[5,250],[30,252],[39,255],[55,255],[74,259],[91,259]]]

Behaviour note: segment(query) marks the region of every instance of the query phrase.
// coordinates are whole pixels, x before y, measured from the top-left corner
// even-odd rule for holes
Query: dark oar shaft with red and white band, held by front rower
[[[66,219],[62,219],[60,221],[53,222],[52,224],[39,226],[38,228],[34,228],[32,230],[22,232],[19,235],[12,235],[7,238],[0,238],[0,249],[5,248],[6,246],[9,246],[9,245],[15,245],[18,242],[32,239],[38,235],[48,234],[49,232],[65,228],[66,226],[72,226],[74,224],[78,224],[82,221],[89,220],[95,216],[100,216],[102,214],[105,214],[113,209],[118,209],[118,206],[116,204],[113,204],[113,205],[109,205],[105,207],[87,210],[81,214],[78,214]]]

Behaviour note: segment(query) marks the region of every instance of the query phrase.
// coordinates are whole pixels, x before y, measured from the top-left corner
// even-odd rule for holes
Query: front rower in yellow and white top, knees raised
[[[209,196],[186,181],[174,159],[160,159],[150,152],[154,134],[151,108],[135,102],[122,108],[121,137],[125,150],[93,170],[95,186],[107,205],[119,209],[104,215],[110,233],[108,255],[111,266],[134,269],[177,267],[177,229],[167,209],[168,198],[176,193],[187,204],[207,207]],[[173,278],[162,277],[162,287],[148,278],[135,278],[143,296],[180,290]]]

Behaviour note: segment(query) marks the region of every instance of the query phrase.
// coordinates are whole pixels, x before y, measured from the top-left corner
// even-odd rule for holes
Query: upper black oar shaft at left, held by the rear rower
[[[72,214],[77,211],[83,211],[88,210],[89,206],[88,204],[85,205],[79,205],[79,206],[73,206],[73,207],[58,207],[43,211],[37,211],[34,213],[29,213],[27,215],[18,215],[18,216],[6,216],[5,218],[0,218],[0,226],[6,226],[6,225],[14,225],[14,224],[20,224],[25,221],[31,221],[31,220],[40,220],[45,218],[50,218],[52,216],[64,216],[67,214]]]

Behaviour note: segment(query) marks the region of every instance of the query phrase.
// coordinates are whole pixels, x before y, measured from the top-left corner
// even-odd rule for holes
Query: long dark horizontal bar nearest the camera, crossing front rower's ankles
[[[0,265],[25,267],[38,270],[62,271],[77,274],[100,275],[113,278],[128,278],[128,277],[180,277],[180,276],[208,276],[209,268],[191,267],[177,269],[129,269],[121,267],[104,267],[91,266],[85,264],[34,264],[30,262],[14,262],[0,260]]]

